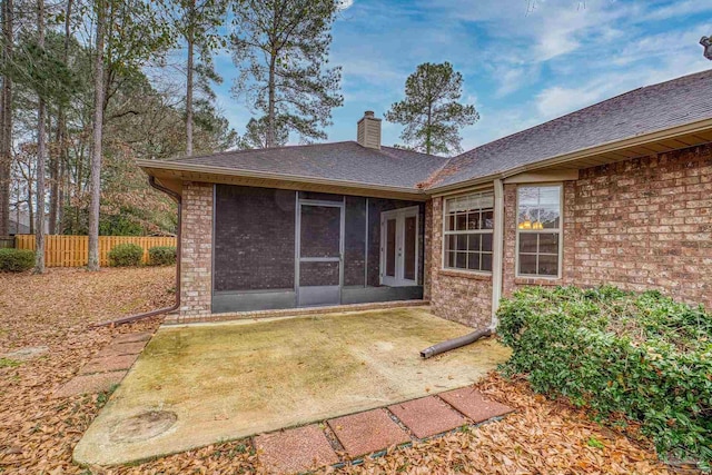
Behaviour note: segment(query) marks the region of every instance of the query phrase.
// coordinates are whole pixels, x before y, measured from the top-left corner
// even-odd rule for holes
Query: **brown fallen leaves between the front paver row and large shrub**
[[[668,474],[647,444],[589,420],[583,410],[493,373],[475,385],[516,412],[500,422],[392,449],[339,474]],[[602,446],[602,448],[600,448]]]

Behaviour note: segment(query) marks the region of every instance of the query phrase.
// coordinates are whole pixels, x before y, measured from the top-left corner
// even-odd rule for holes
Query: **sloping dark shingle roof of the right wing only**
[[[634,89],[452,158],[431,188],[712,118],[712,70]]]

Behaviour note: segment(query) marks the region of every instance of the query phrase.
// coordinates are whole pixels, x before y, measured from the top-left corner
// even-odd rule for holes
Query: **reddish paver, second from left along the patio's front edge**
[[[338,417],[328,420],[328,425],[350,457],[411,442],[411,436],[384,409]]]

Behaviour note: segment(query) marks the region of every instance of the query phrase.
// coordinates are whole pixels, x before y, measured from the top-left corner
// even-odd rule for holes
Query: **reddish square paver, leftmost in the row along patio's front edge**
[[[318,425],[263,434],[255,437],[257,456],[273,474],[303,473],[338,462]]]

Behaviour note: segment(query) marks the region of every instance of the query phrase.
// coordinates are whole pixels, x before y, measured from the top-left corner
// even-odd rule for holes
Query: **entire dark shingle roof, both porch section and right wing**
[[[433,189],[710,118],[712,70],[632,90],[449,159],[344,141],[227,151],[164,164]]]

